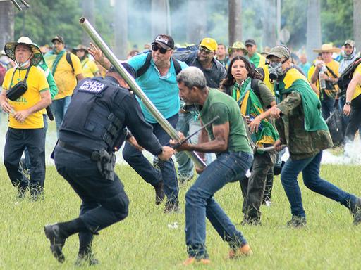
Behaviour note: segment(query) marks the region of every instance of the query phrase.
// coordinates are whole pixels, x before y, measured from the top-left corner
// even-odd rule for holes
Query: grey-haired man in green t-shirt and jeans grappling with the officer
[[[202,130],[197,144],[183,143],[177,148],[178,151],[195,150],[216,153],[217,156],[185,194],[185,238],[189,257],[183,265],[210,262],[205,246],[206,217],[219,236],[228,242],[230,258],[251,255],[247,240],[213,198],[214,193],[227,183],[243,179],[252,165],[252,150],[238,104],[231,96],[217,89],[209,89],[199,68],[182,70],[177,76],[177,82],[179,96],[185,103],[202,106],[202,122],[209,122],[219,116],[212,126]],[[180,137],[184,139],[183,134]]]

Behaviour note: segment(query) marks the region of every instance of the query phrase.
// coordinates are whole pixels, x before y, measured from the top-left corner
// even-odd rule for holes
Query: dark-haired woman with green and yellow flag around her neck
[[[240,181],[243,193],[243,224],[260,224],[264,188],[267,172],[273,169],[275,153],[264,153],[257,148],[273,146],[279,138],[276,129],[269,120],[259,120],[257,116],[264,110],[276,105],[274,96],[266,84],[260,80],[259,73],[252,68],[249,60],[243,56],[236,56],[231,60],[226,79],[221,84],[226,94],[232,96],[240,106],[240,113],[247,122],[257,122],[258,129],[250,134],[251,144],[254,146],[255,155],[252,172],[249,179]],[[273,178],[273,174],[269,174]]]

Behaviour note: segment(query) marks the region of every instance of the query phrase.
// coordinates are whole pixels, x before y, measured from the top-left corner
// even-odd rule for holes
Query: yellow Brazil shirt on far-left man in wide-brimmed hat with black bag
[[[25,79],[26,69],[25,70],[16,70],[13,77],[14,68],[11,68],[6,72],[3,82],[3,89],[8,91],[12,86],[18,84]],[[11,77],[13,77],[13,82],[11,82]],[[47,82],[47,77],[45,77],[44,71],[39,70],[32,66],[27,76],[27,91],[20,96],[16,101],[8,100],[10,105],[13,105],[13,109],[18,112],[19,110],[26,110],[27,108],[32,107],[41,101],[40,93],[42,91],[49,91],[49,84]],[[44,120],[42,117],[42,110],[39,110],[36,113],[29,115],[25,122],[20,123],[15,120],[12,114],[9,115],[9,127],[13,129],[40,129],[44,127]]]

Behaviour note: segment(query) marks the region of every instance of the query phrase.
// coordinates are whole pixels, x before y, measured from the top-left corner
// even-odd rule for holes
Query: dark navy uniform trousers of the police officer
[[[97,162],[59,146],[54,150],[54,161],[56,170],[82,200],[79,217],[91,233],[79,233],[80,248],[90,245],[92,233],[128,216],[129,200],[118,176],[114,181],[106,180]]]

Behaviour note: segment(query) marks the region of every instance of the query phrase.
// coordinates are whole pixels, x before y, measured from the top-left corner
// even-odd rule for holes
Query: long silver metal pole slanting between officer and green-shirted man
[[[135,94],[142,100],[144,105],[147,107],[150,113],[154,116],[154,118],[157,120],[157,122],[163,127],[163,129],[166,131],[166,133],[171,136],[173,140],[178,141],[179,136],[176,129],[174,129],[171,124],[164,118],[163,115],[159,112],[159,110],[154,106],[152,101],[149,100],[149,98],[145,95],[145,93],[140,89],[139,85],[135,82],[135,79],[129,75],[129,73],[126,71],[125,68],[123,68],[123,65],[118,61],[116,56],[114,55],[113,51],[109,48],[108,45],[103,41],[102,37],[98,34],[98,32],[92,27],[92,25],[89,23],[89,21],[82,17],[79,20],[80,25],[84,28],[85,32],[89,34],[90,38],[94,41],[94,43],[99,47],[99,49],[104,53],[106,58],[109,59],[111,65],[114,66],[116,71],[123,77],[123,79],[127,82],[127,84],[130,86],[130,89],[134,91]],[[207,165],[204,163],[204,161],[195,153],[195,152],[185,152],[187,155],[192,159],[193,162],[195,162],[195,165],[199,168],[204,168]]]

